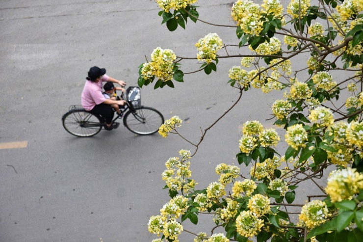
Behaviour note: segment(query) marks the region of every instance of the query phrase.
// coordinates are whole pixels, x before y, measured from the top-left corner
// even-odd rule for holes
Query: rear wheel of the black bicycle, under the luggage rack
[[[84,109],[73,109],[62,117],[64,129],[78,137],[91,137],[102,129],[103,121],[100,116]]]

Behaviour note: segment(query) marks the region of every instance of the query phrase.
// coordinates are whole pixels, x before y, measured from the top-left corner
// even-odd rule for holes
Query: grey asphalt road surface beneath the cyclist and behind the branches
[[[231,2],[199,0],[200,16],[233,25]],[[154,0],[0,1],[0,144],[5,147],[0,149],[0,242],[156,238],[147,231],[147,223],[168,201],[167,190],[162,190],[164,163],[179,150],[193,147],[177,136],[138,136],[122,126],[77,138],[63,129],[61,116],[70,105],[80,103],[91,66],[106,68],[109,76],[132,86],[137,67],[158,46],[194,57],[194,44],[209,32],[217,32],[224,43],[236,42],[234,28],[203,23],[188,22],[186,31],[179,27],[169,32],[158,11]],[[180,116],[181,134],[198,142],[200,130],[238,97],[227,81],[228,70],[239,62],[220,60],[216,73],[185,75],[185,82],[176,83],[174,89],[146,86],[142,103],[157,108],[166,119]],[[184,72],[199,68],[196,60],[181,64]],[[218,179],[216,164],[237,163],[241,123],[259,120],[272,127],[265,121],[270,117],[269,103],[281,95],[246,92],[208,131],[191,165],[199,188]],[[9,143],[13,148],[6,148]],[[242,167],[242,173],[247,172]],[[200,227],[186,222],[185,228],[205,231],[211,222],[200,219]]]

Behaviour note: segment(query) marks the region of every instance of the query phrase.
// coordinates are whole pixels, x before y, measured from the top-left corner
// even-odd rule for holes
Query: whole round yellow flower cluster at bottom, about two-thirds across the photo
[[[244,237],[257,235],[263,227],[263,220],[251,211],[242,211],[235,220],[237,233]]]

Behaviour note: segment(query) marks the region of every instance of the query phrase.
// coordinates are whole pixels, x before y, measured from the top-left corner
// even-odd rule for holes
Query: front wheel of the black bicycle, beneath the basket
[[[155,108],[140,107],[128,111],[124,117],[124,125],[135,134],[155,134],[164,123],[164,117]]]

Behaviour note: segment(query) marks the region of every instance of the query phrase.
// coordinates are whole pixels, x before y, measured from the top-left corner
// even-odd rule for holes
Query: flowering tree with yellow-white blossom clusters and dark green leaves
[[[208,23],[199,18],[197,0],[156,0],[159,15],[170,31],[185,28],[187,20]],[[219,180],[207,188],[196,189],[191,178],[190,160],[196,154],[207,131],[198,143],[178,132],[178,116],[166,120],[159,134],[178,134],[195,146],[191,153],[181,150],[180,157],[166,161],[162,179],[171,200],[152,216],[148,228],[160,236],[153,242],[178,242],[182,231],[194,234],[195,242],[333,242],[361,241],[363,236],[363,10],[362,0],[291,0],[285,8],[279,0],[237,0],[231,9],[237,44],[223,43],[217,33],[209,33],[195,47],[194,58],[177,56],[172,50],[156,48],[151,61],[140,65],[140,87],[174,87],[183,82],[181,62],[196,59],[207,75],[217,70],[218,60],[240,57],[241,66],[229,70],[231,88],[242,94],[258,88],[267,93],[284,91],[284,99],[271,105],[274,125],[285,129],[288,148],[277,151],[280,136],[265,129],[258,121],[243,124],[237,160],[250,169],[221,163],[215,171]],[[223,25],[216,25],[223,27]],[[282,41],[285,45],[282,44]],[[250,54],[220,55],[232,47]],[[228,49],[228,51],[227,51]],[[232,49],[232,51],[231,51]],[[290,59],[308,53],[306,66],[292,70]],[[197,72],[195,71],[195,72]],[[344,72],[337,80],[334,73]],[[304,79],[297,76],[303,73]],[[337,81],[334,81],[337,80]],[[337,106],[340,92],[350,94],[345,105]],[[334,119],[334,115],[338,118]],[[282,156],[280,154],[283,154]],[[314,179],[334,169],[323,186]],[[321,196],[308,196],[307,204],[295,204],[295,189],[312,180]],[[288,206],[301,207],[298,221],[291,221]],[[211,233],[196,233],[182,226],[189,219],[198,223],[198,215],[210,214],[216,224]],[[213,233],[223,227],[225,233]]]

